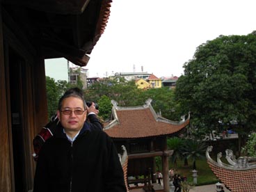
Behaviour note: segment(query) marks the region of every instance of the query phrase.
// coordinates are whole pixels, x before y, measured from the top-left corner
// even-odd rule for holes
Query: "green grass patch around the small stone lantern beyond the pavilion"
[[[188,182],[193,182],[193,161],[191,159],[189,159],[189,166],[184,166],[184,161],[177,160],[177,166],[170,163],[170,168],[174,168],[176,174],[186,176]],[[218,177],[216,177],[211,171],[211,168],[207,163],[207,159],[196,160],[196,168],[198,170],[198,186],[205,184],[216,184],[219,182]]]

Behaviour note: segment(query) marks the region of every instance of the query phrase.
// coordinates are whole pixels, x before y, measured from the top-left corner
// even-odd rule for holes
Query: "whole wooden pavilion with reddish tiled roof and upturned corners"
[[[155,182],[154,173],[157,170],[154,157],[161,157],[163,191],[169,192],[168,157],[173,150],[167,149],[167,138],[182,133],[189,124],[189,115],[180,122],[168,120],[154,111],[151,101],[147,99],[143,106],[129,107],[118,106],[112,101],[111,119],[104,125],[104,131],[113,138],[119,153],[122,154],[124,147],[126,149],[127,178],[144,175],[147,182]],[[131,182],[134,181],[128,179],[127,184]]]

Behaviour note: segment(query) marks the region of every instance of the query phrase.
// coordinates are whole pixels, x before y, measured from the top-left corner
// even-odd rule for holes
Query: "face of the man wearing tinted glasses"
[[[75,110],[78,112],[80,111],[80,113],[85,110],[81,99],[77,97],[67,97],[63,99],[61,111],[57,111],[57,115],[65,131],[79,131],[83,127],[87,111],[84,111],[79,115],[75,114]],[[68,111],[71,113],[69,115],[65,114]]]

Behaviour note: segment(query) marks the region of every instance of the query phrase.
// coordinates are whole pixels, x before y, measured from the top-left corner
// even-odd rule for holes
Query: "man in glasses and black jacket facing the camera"
[[[90,123],[95,114],[86,121],[88,109],[78,88],[67,90],[59,100],[61,125],[42,145],[33,192],[126,191],[115,146],[100,123]]]

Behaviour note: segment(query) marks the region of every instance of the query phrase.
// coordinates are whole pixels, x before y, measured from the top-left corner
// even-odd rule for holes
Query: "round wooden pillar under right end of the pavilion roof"
[[[167,151],[167,138],[163,138],[163,156],[162,156],[162,169],[163,169],[163,191],[169,192],[170,191],[170,185],[169,185],[169,163],[168,163],[168,153]]]

